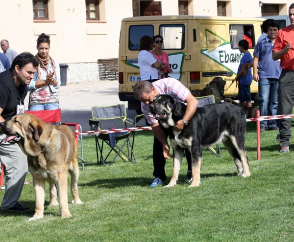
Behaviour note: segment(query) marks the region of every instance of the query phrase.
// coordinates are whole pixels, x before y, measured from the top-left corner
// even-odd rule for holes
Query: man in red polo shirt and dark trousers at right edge
[[[272,49],[272,59],[280,59],[282,67],[278,88],[279,114],[292,114],[294,106],[294,3],[289,7],[291,25],[279,30]],[[291,119],[280,119],[277,141],[280,153],[289,152]]]

